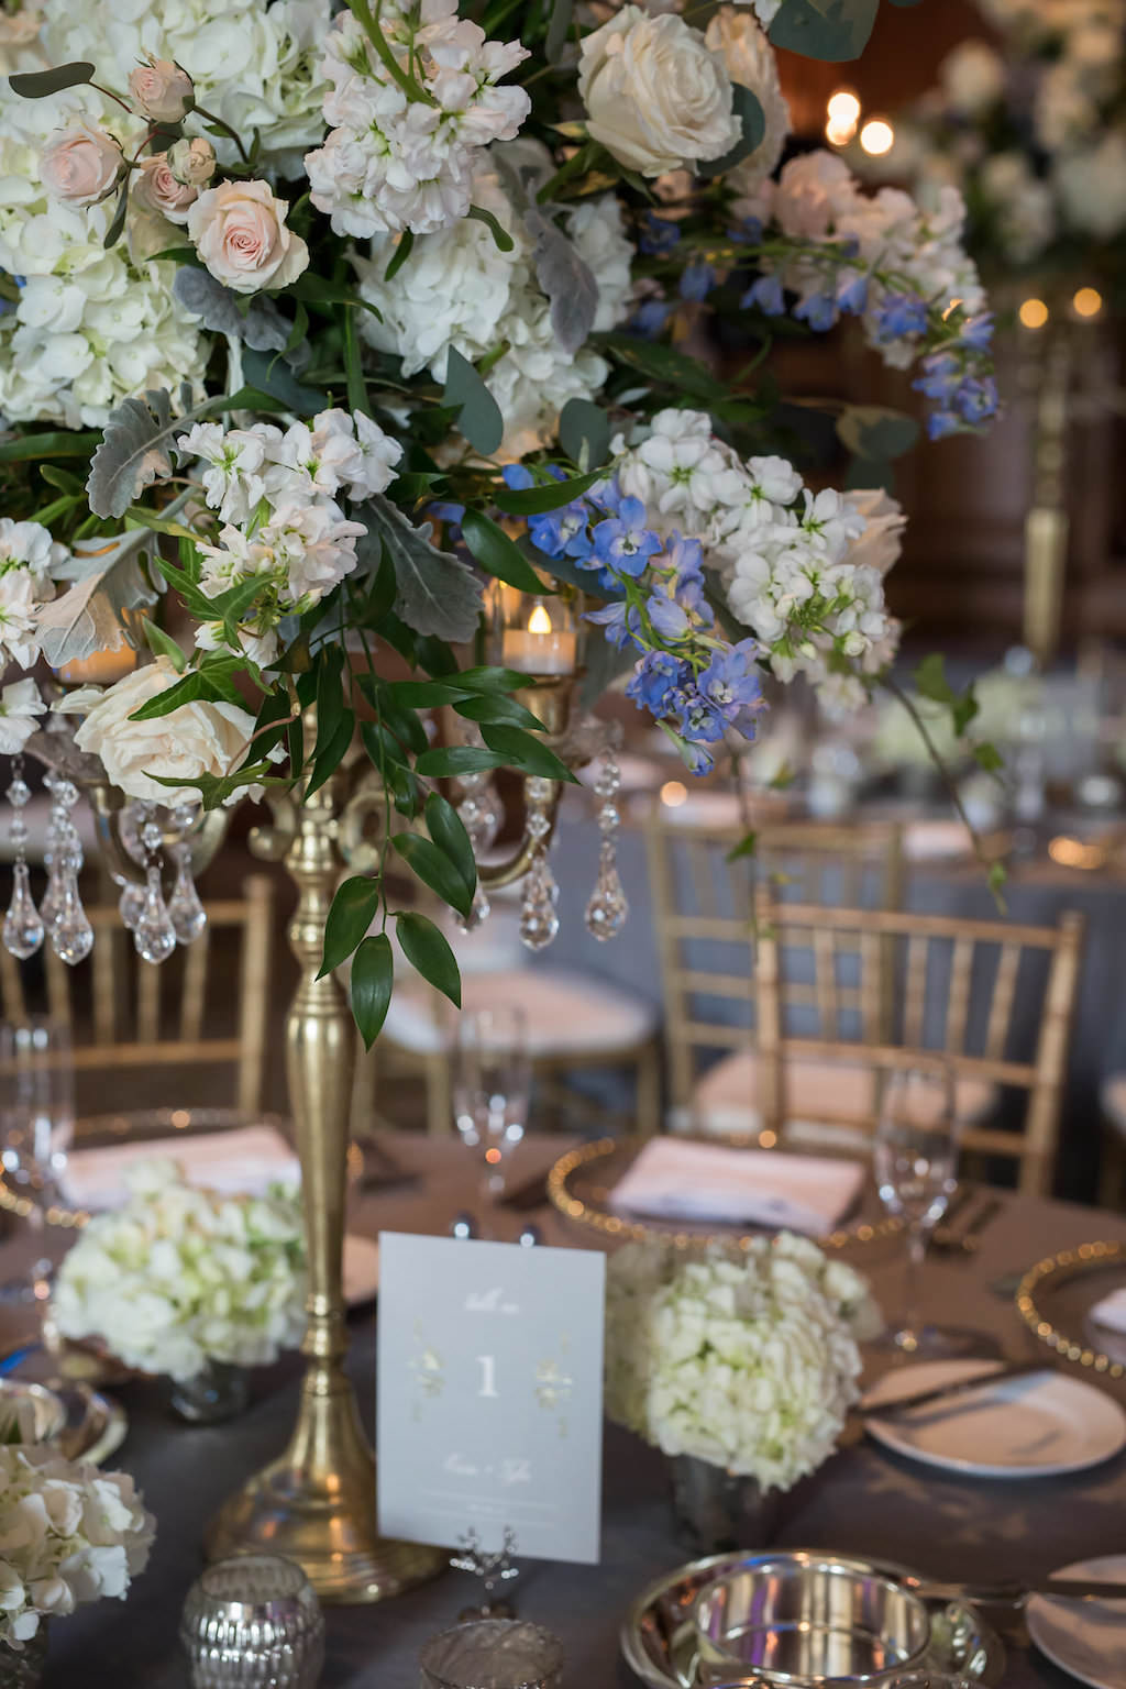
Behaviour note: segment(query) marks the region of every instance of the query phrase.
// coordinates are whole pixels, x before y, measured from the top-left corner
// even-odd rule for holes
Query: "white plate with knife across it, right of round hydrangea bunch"
[[[864,1407],[955,1378],[986,1378],[1001,1361],[923,1361],[886,1373]],[[1109,1461],[1126,1446],[1126,1414],[1109,1395],[1067,1373],[1023,1373],[993,1390],[864,1420],[896,1454],[976,1478],[1050,1478]],[[1126,1686],[1124,1686],[1126,1689]]]

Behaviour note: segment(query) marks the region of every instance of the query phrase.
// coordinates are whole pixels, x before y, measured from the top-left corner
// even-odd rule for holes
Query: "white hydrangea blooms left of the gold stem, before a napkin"
[[[299,1198],[219,1196],[174,1160],[128,1169],[130,1199],[96,1214],[64,1257],[59,1331],[100,1338],[138,1371],[176,1382],[208,1361],[265,1366],[300,1343],[306,1314]]]

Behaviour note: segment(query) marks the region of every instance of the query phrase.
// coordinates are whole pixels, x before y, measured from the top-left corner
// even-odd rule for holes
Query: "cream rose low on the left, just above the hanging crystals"
[[[201,774],[233,774],[245,760],[255,718],[236,704],[196,701],[152,721],[128,718],[179,679],[169,657],[127,674],[89,711],[74,743],[101,757],[111,784],[147,802],[177,802],[177,794],[154,775],[196,780]]]

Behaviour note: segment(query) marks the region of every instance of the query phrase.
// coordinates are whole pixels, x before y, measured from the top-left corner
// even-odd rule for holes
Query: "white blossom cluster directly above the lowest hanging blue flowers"
[[[729,610],[778,679],[804,674],[829,708],[861,708],[863,677],[898,644],[883,595],[905,527],[896,502],[812,493],[785,458],[743,463],[706,410],[660,410],[641,439],[613,449],[618,485],[641,500],[647,522],[702,542]]]

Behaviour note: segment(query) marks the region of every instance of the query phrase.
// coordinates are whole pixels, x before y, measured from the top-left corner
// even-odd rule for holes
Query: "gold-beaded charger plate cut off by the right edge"
[[[1101,1378],[1126,1378],[1126,1333],[1094,1319],[1096,1306],[1126,1289],[1126,1243],[1080,1243],[1030,1267],[1016,1311],[1040,1343]]]

